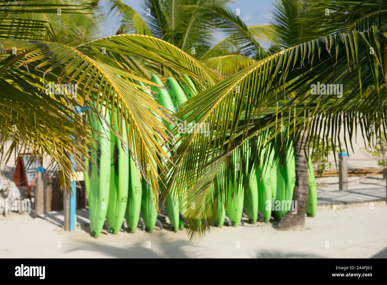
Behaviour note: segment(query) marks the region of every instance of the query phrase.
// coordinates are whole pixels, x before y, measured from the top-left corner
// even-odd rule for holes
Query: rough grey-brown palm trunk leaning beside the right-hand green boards
[[[292,210],[278,223],[277,230],[301,230],[305,225],[305,211],[307,210],[309,194],[308,157],[309,148],[305,148],[306,134],[301,131],[300,140],[296,145],[296,185],[293,192],[293,201],[296,213]],[[305,155],[306,154],[306,155]],[[297,202],[297,204],[296,204]]]

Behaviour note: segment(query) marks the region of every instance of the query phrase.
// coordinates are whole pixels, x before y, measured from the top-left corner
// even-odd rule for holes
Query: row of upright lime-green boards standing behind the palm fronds
[[[152,91],[155,92],[152,93],[152,96],[158,99],[159,104],[171,111],[176,111],[178,106],[197,93],[192,81],[188,77],[187,79],[191,88],[187,88],[183,84],[182,88],[175,79],[168,77],[166,89],[152,86]],[[151,81],[163,86],[162,81],[154,74],[152,74]],[[143,87],[143,92],[150,93],[141,82],[138,84]],[[194,90],[194,92],[190,90]],[[103,114],[104,112],[103,108]],[[110,116],[110,111],[108,111],[107,121],[110,121]],[[116,113],[113,116],[115,116],[113,128],[118,133]],[[124,218],[126,219],[127,231],[130,233],[135,232],[139,223],[143,230],[149,232],[152,232],[156,225],[162,229],[163,226],[157,219],[158,209],[154,203],[154,193],[147,188],[145,181],[141,179],[139,166],[128,151],[125,126],[122,128],[122,142],[113,132],[108,130],[102,119],[98,120],[97,117],[92,117],[91,126],[99,132],[99,136],[96,136],[96,145],[89,146],[92,161],[86,160],[84,176],[89,200],[91,235],[98,237],[105,225],[105,217],[108,230],[114,234],[117,234],[122,228],[125,230],[123,227]],[[169,126],[170,129],[172,127]],[[249,153],[253,150],[250,150],[246,145],[244,151]],[[261,152],[261,155],[265,155],[266,151],[269,152],[266,154],[268,155],[267,162],[250,167],[250,169],[256,169],[256,173],[250,175],[248,183],[236,181],[236,171],[230,170],[228,194],[222,197],[218,183],[218,210],[214,213],[216,226],[223,226],[225,221],[228,225],[238,226],[242,221],[243,208],[249,223],[255,223],[257,218],[268,222],[271,216],[280,220],[286,212],[291,210],[290,205],[282,203],[282,201],[293,199],[296,177],[294,147],[289,147],[286,163],[281,166],[278,164],[278,159],[274,157],[274,150],[271,147],[267,147],[265,151]],[[233,154],[231,159],[237,165],[241,161],[240,154]],[[246,162],[245,167],[238,170],[247,172],[248,163]],[[273,200],[280,201],[281,207],[276,208],[275,205],[272,205]],[[185,211],[180,202],[177,193],[171,193],[165,201],[171,229],[175,232],[184,228],[182,217]],[[308,216],[315,216],[316,207],[316,184],[312,164],[309,160]]]

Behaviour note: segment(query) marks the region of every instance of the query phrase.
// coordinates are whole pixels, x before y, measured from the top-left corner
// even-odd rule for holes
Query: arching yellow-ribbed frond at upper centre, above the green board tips
[[[108,56],[101,53],[103,48],[106,49]],[[123,68],[127,72],[140,72],[141,68],[133,60],[139,59],[142,64],[146,62],[149,67],[153,66],[154,73],[158,73],[161,68],[166,69],[173,77],[185,84],[188,83],[186,76],[189,76],[198,90],[221,80],[219,74],[211,68],[174,45],[151,36],[109,36],[85,43],[78,49],[84,54],[98,57],[99,60]]]

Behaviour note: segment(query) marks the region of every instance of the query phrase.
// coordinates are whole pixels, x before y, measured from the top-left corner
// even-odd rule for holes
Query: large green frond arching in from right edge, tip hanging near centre
[[[263,135],[262,142],[274,147],[282,137],[281,125],[288,130],[282,138],[285,142],[292,139],[297,143],[301,130],[317,133],[321,116],[326,127],[318,131],[325,140],[329,133],[330,138],[337,137],[344,120],[362,124],[364,137],[371,139],[374,134],[367,130],[371,123],[375,130],[386,127],[384,54],[378,51],[386,39],[385,33],[372,27],[364,33],[353,31],[308,41],[260,60],[188,100],[176,116],[189,114],[188,122],[209,124],[211,131],[209,136],[197,132],[179,139],[174,160],[179,171],[170,177],[169,189],[184,195],[188,189],[196,191],[197,185],[213,185],[214,180],[202,183],[202,178],[213,177],[208,171],[216,169],[238,139],[243,142],[250,136]],[[374,54],[369,53],[371,45]],[[285,89],[287,81],[291,84]],[[342,85],[342,97],[335,93],[313,94],[312,84],[317,82]],[[368,86],[374,86],[374,91],[362,98],[361,88]],[[286,93],[295,90],[295,97],[286,99]],[[258,118],[260,115],[263,117]],[[344,133],[352,134],[352,127],[344,127]],[[286,145],[275,144],[277,157],[286,157]]]

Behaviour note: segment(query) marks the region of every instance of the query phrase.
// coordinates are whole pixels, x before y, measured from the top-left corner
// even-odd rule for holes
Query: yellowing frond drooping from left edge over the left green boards
[[[139,85],[131,80],[139,79],[146,85],[154,83],[99,62],[65,45],[37,41],[3,41],[2,44],[4,53],[12,51],[12,48],[19,53],[5,58],[0,72],[2,78],[13,80],[16,86],[29,82],[34,85],[37,93],[41,93],[45,88],[47,95],[50,93],[47,88],[51,86],[51,82],[61,86],[75,83],[77,93],[79,91],[75,98],[65,93],[56,95],[55,100],[67,104],[70,110],[72,105],[86,105],[91,113],[99,120],[105,121],[112,131],[113,122],[117,120],[119,131],[113,132],[122,140],[122,128],[127,129],[130,152],[136,158],[140,169],[145,169],[144,165],[149,163],[152,171],[147,173],[147,176],[142,171],[143,176],[155,187],[155,191],[158,189],[157,166],[161,167],[161,162],[157,154],[161,157],[167,156],[159,142],[172,143],[173,137],[166,133],[166,128],[159,124],[154,114],[167,122],[170,122],[173,116],[151,96],[137,90]],[[43,102],[44,99],[47,100],[47,97],[41,98]],[[44,105],[43,102],[40,105]],[[104,113],[103,106],[106,106]],[[57,109],[58,107],[56,106]],[[121,120],[115,116],[112,116],[111,122],[106,121],[108,110],[122,117],[125,124],[121,124]]]

